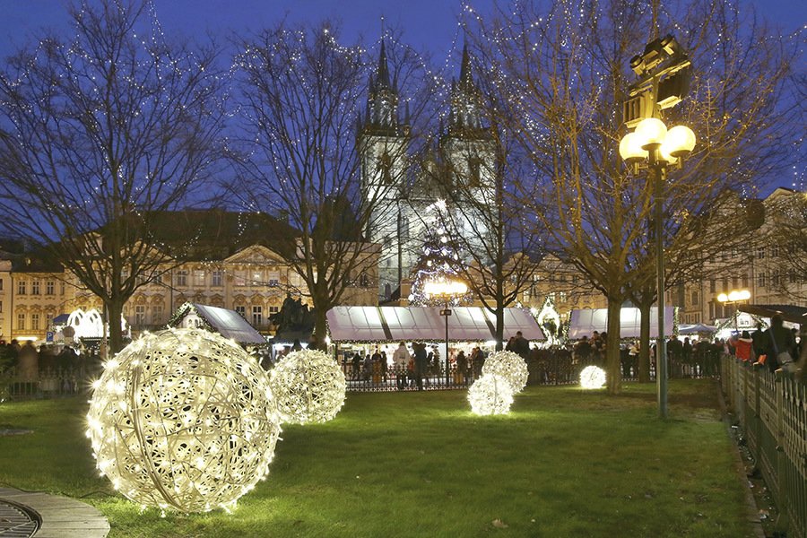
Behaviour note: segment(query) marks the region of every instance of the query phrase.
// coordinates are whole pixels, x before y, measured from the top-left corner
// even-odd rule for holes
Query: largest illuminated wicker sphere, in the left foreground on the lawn
[[[93,387],[97,466],[143,507],[229,511],[269,472],[281,432],[269,378],[219,334],[146,334]]]

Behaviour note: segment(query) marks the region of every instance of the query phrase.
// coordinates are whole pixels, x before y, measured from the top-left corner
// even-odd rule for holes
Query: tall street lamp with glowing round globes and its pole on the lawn
[[[636,131],[620,141],[620,156],[634,169],[646,168],[654,181],[655,270],[658,298],[658,339],[655,344],[655,382],[659,417],[667,418],[667,350],[664,341],[664,178],[668,166],[676,165],[695,147],[695,134],[687,126],[669,131],[664,122],[647,117]]]

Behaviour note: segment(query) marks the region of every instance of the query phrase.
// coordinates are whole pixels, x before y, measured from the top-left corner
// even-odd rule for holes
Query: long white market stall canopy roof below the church
[[[335,307],[328,310],[332,342],[442,341],[446,319],[442,308]],[[485,342],[494,338],[496,317],[480,307],[451,308],[448,337],[453,341]],[[505,308],[505,337],[521,331],[527,340],[543,340],[543,333],[527,310]]]

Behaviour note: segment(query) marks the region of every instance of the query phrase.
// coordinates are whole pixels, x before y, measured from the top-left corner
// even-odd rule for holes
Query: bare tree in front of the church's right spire
[[[497,123],[500,113],[495,109],[501,109],[497,100],[502,96],[483,74],[473,76],[472,65],[464,47],[460,78],[452,84],[447,131],[440,136],[439,166],[431,168],[430,176],[449,202],[440,217],[464,257],[456,267],[474,299],[496,317],[500,350],[504,309],[517,304],[531,286],[541,236],[524,222],[517,187],[524,156],[508,131],[513,123]]]

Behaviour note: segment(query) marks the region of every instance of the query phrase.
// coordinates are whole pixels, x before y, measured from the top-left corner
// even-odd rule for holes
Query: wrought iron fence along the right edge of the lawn
[[[777,532],[807,536],[807,382],[724,356],[720,383],[779,508]]]

